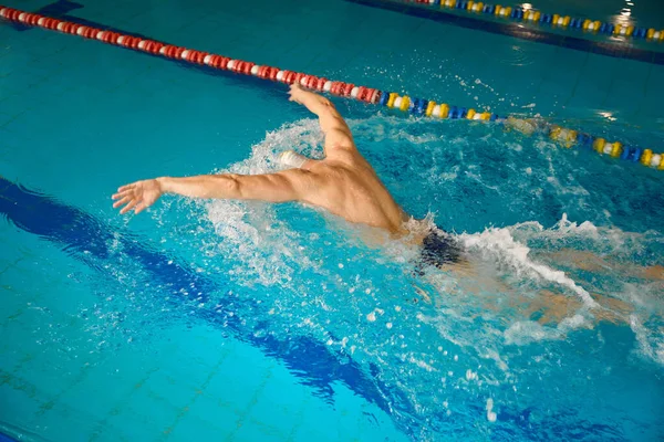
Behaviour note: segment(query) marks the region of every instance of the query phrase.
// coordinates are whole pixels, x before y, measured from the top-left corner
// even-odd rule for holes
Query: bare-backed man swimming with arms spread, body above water
[[[395,239],[412,235],[405,227],[411,217],[357,151],[351,129],[334,105],[297,84],[291,86],[289,99],[304,105],[319,117],[325,136],[324,159],[313,160],[289,150],[280,156],[280,161],[290,168],[274,173],[162,177],[136,181],[117,190],[113,207],[124,206],[121,213],[131,210],[141,213],[164,193],[268,202],[300,201],[352,223],[378,228]],[[414,240],[423,245],[424,261],[430,264],[445,265],[460,256],[456,241],[437,229]]]

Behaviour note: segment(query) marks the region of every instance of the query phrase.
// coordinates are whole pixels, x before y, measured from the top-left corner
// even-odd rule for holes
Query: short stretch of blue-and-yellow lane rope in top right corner
[[[387,0],[392,1],[392,0]],[[481,1],[473,0],[405,0],[405,2],[415,2],[440,9],[457,9],[468,13],[494,15],[499,19],[508,19],[518,22],[528,22],[540,25],[550,25],[551,28],[575,29],[583,32],[600,33],[605,35],[624,36],[632,39],[642,39],[650,42],[664,41],[664,29],[635,28],[633,25],[620,23],[606,23],[599,20],[579,19],[562,14],[544,13],[532,8],[522,7],[501,7],[500,4],[488,4]]]

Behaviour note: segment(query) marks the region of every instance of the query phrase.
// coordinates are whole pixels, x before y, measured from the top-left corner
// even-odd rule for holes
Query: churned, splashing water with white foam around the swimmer
[[[301,204],[198,203],[214,233],[196,231],[190,245],[205,251],[205,272],[228,272],[241,285],[262,287],[251,292],[269,312],[259,318],[267,323],[261,334],[314,336],[367,371],[377,367],[381,382],[403,394],[397,419],[435,421],[436,428],[445,427],[448,415],[468,413],[484,412],[487,424],[500,423],[504,415],[509,421],[515,394],[539,408],[537,392],[528,390],[535,381],[528,365],[537,362],[539,376],[571,370],[581,361],[566,345],[596,329],[599,320],[627,317],[622,307],[599,303],[598,292],[629,306],[636,318],[629,327],[640,343],[634,351],[661,364],[664,340],[661,322],[652,319],[652,296],[640,306],[626,294],[627,286],[636,293],[645,283],[588,274],[551,256],[570,248],[619,261],[641,256],[645,264],[651,253],[661,256],[658,232],[625,231],[611,224],[613,215],[601,204],[591,204],[611,196],[570,176],[575,159],[568,162],[564,151],[546,140],[515,141],[501,131],[475,137],[473,126],[455,123],[376,116],[350,125],[397,200],[425,219],[412,228],[428,229],[435,220],[467,231],[456,238],[475,269],[427,269],[422,277],[417,248],[397,241],[369,246],[361,228]],[[321,156],[321,140],[317,122],[297,122],[269,133],[247,160],[225,170],[269,172],[287,149]],[[515,209],[505,217],[508,207]],[[564,209],[587,218],[570,221]],[[487,228],[491,217],[502,217],[505,227]],[[216,256],[225,264],[216,264]],[[548,303],[570,299],[569,308],[549,314]],[[602,309],[609,313],[598,314]],[[487,397],[498,410],[487,409]]]

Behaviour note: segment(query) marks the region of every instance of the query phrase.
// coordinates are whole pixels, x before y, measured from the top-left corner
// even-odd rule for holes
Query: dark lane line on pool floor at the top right
[[[445,10],[432,10],[429,7],[419,4],[396,3],[388,0],[345,0],[351,3],[365,7],[384,9],[400,12],[406,15],[436,21],[438,23],[453,24],[460,28],[489,32],[494,34],[508,35],[515,39],[544,43],[553,46],[568,48],[577,51],[590,52],[615,59],[629,59],[640,62],[664,65],[664,52],[649,51],[633,48],[629,44],[603,43],[575,36],[560,35],[537,29],[528,29],[516,23],[498,23],[479,18],[455,15]]]

